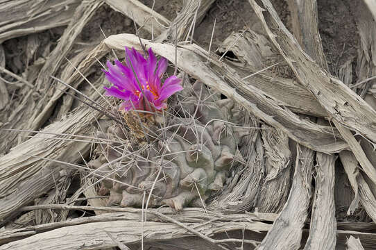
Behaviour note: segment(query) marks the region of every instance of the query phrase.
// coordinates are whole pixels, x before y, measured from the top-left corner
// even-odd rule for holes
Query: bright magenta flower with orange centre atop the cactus
[[[176,76],[170,76],[162,85],[161,78],[166,72],[167,60],[161,58],[157,62],[151,49],[148,49],[148,58],[145,59],[135,48],[130,50],[126,47],[126,64],[123,65],[119,60],[115,60],[114,63],[112,65],[108,61],[108,71],[103,70],[108,81],[113,84],[110,88],[104,87],[105,94],[122,99],[120,108],[126,111],[134,108],[148,111],[161,110],[167,107],[166,100],[172,94],[182,90],[181,80]]]

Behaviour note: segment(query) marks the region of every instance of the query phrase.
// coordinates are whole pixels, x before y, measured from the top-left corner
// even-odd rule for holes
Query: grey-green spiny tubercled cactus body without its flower
[[[103,178],[101,190],[110,192],[108,205],[142,207],[146,192],[151,197],[146,206],[166,204],[182,210],[221,190],[228,170],[237,165],[238,143],[246,133],[233,128],[241,124],[241,111],[202,83],[189,84],[181,103],[171,104],[167,113],[153,117],[127,111],[130,133],[114,124],[100,135],[124,140],[99,145],[99,157],[88,163],[94,172],[110,176],[110,181]]]

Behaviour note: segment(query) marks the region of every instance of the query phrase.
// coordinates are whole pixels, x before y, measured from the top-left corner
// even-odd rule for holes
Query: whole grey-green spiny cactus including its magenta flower
[[[88,165],[103,176],[100,192],[110,193],[108,206],[141,207],[146,200],[148,206],[175,210],[202,205],[223,188],[230,167],[241,159],[245,131],[234,126],[242,117],[234,102],[198,81],[183,89],[170,76],[162,85],[167,62],[162,58],[158,67],[155,62],[151,49],[146,59],[133,49],[125,63],[108,64],[105,72],[114,84],[106,94],[123,100],[123,122],[99,130],[110,142],[99,144]],[[167,97],[178,91],[167,106]]]

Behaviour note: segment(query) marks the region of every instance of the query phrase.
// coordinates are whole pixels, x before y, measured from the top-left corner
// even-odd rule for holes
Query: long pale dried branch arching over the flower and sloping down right
[[[153,47],[155,53],[164,56],[172,63],[175,62],[175,47],[170,44],[158,44],[143,40],[148,47]],[[103,41],[98,49],[119,49],[124,46],[142,49],[135,35],[112,35]],[[316,151],[334,153],[347,149],[347,144],[330,126],[318,126],[306,119],[300,119],[287,108],[277,104],[275,99],[248,85],[232,72],[224,63],[210,56],[210,66],[207,62],[207,52],[195,44],[180,45],[177,51],[178,67],[187,74],[197,78],[206,85],[234,99],[239,105],[249,110],[267,124],[278,128],[290,138]],[[184,63],[179,63],[184,62]],[[224,77],[224,79],[223,79]]]

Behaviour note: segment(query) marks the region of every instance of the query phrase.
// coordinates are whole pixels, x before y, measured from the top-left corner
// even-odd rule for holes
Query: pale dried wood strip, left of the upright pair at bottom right
[[[298,144],[297,152],[289,199],[257,249],[300,249],[311,201],[314,151]]]

